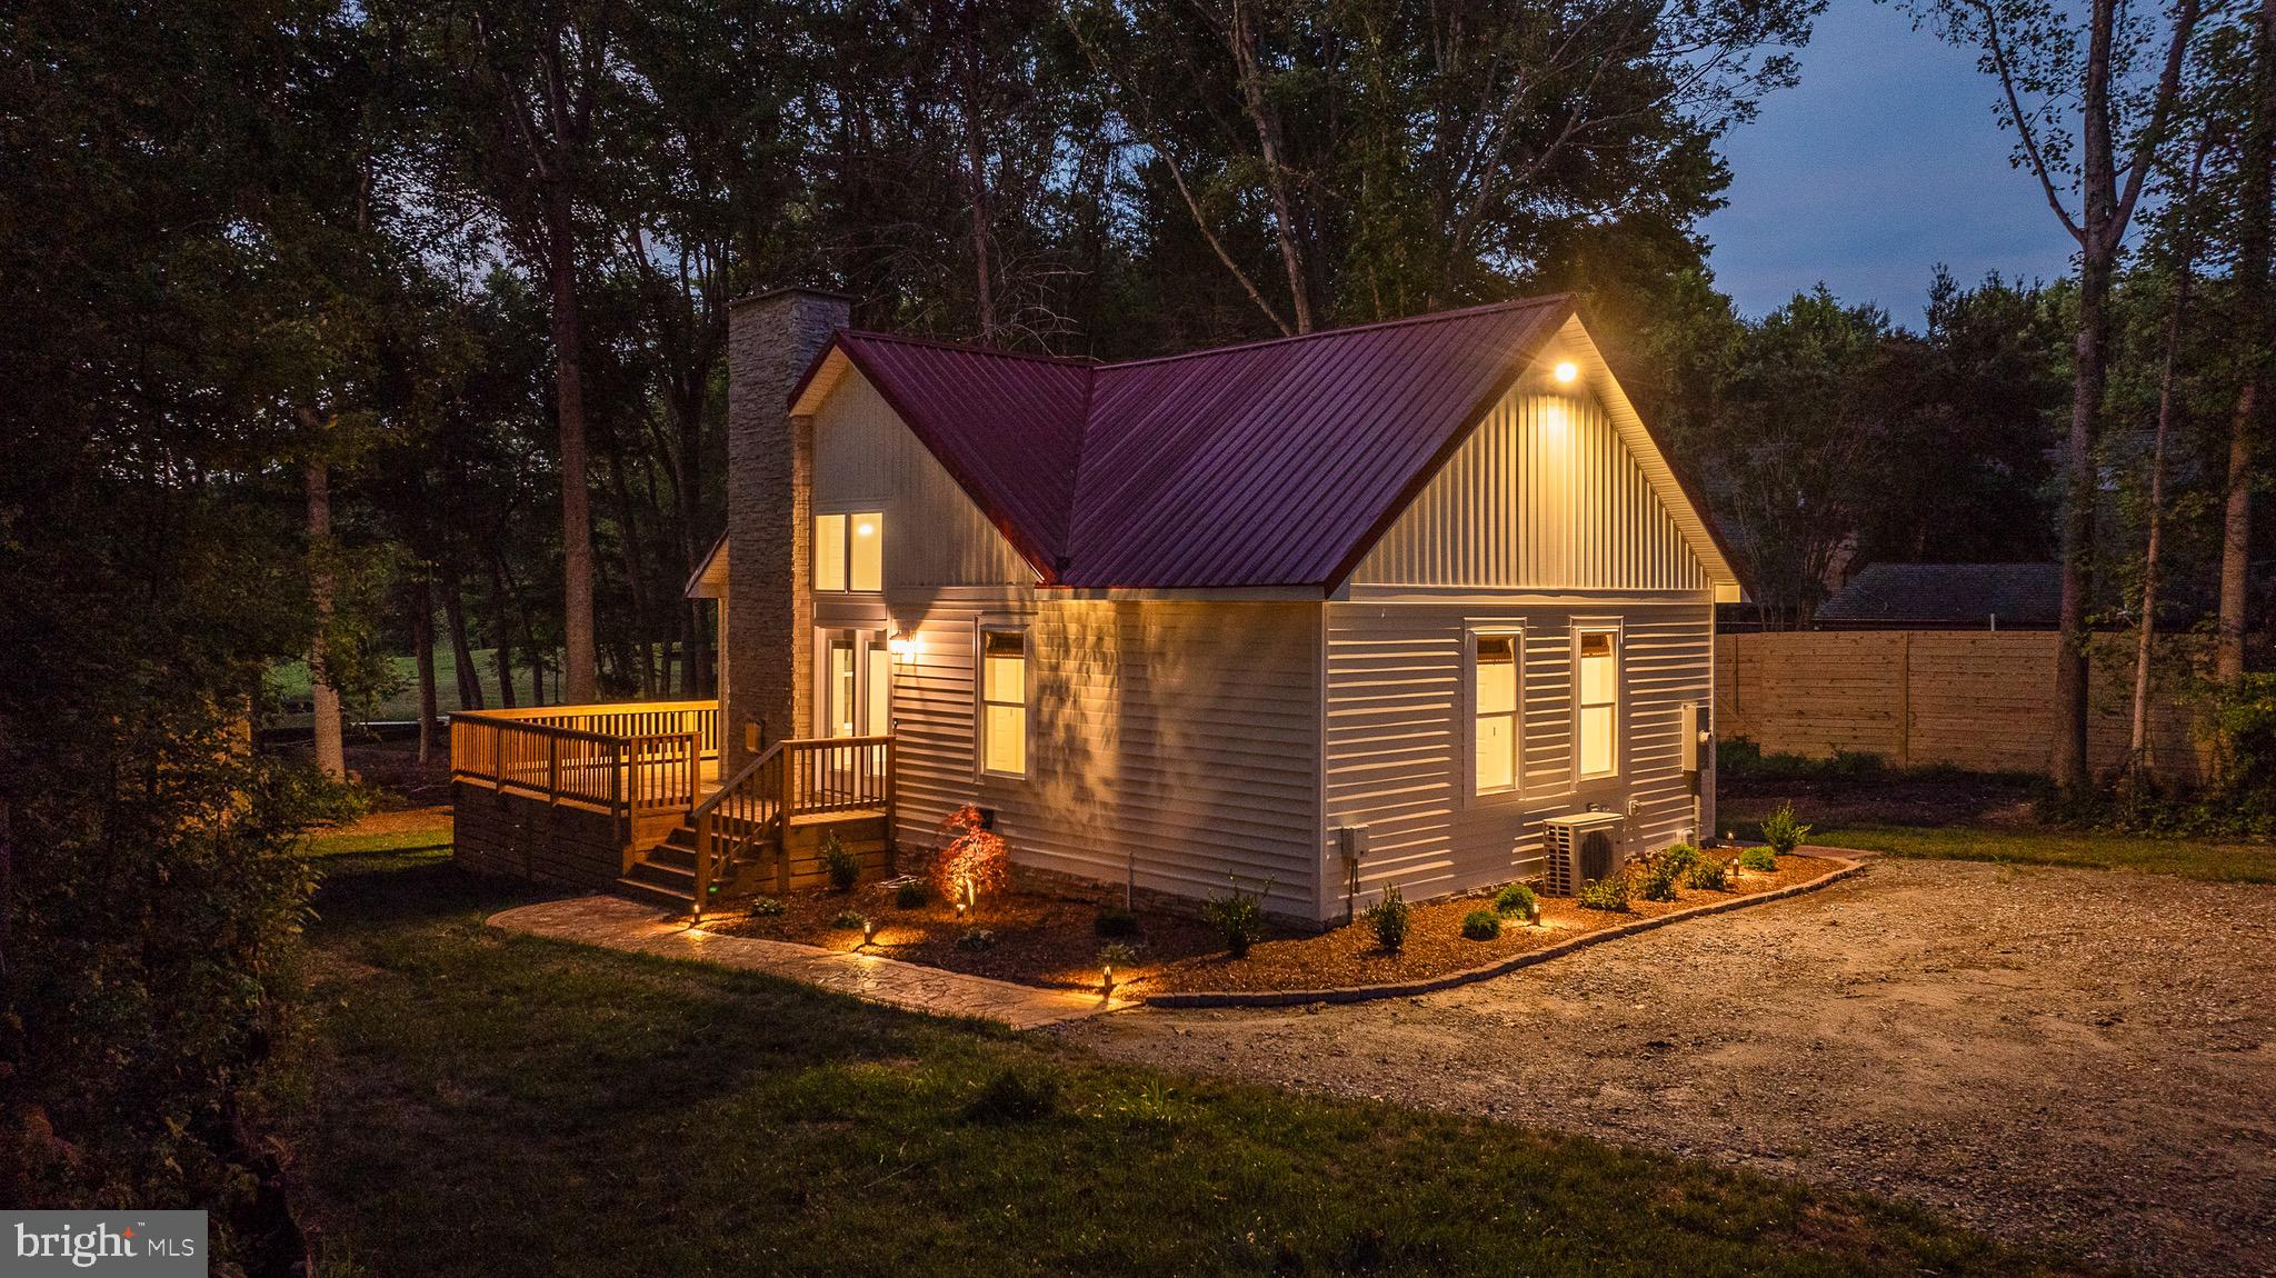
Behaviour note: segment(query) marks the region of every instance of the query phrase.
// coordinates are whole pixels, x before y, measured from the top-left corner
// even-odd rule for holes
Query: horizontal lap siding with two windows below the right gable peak
[[[1368,594],[1368,591],[1359,591]],[[1338,825],[1368,825],[1366,905],[1386,885],[1409,898],[1468,891],[1543,866],[1541,821],[1589,803],[1627,812],[1630,850],[1693,825],[1682,773],[1682,703],[1714,694],[1714,616],[1698,598],[1432,600],[1379,591],[1327,605],[1327,857]],[[1621,644],[1621,773],[1573,778],[1573,625],[1614,623]],[[1473,630],[1525,630],[1516,794],[1473,796]],[[1341,871],[1336,871],[1341,873]],[[1343,914],[1343,885],[1322,894]]]

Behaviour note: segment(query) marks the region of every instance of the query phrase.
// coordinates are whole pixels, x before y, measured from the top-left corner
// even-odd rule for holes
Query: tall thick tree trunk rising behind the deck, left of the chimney
[[[592,500],[585,489],[585,318],[576,296],[576,227],[569,191],[546,191],[546,282],[553,291],[553,396],[562,446],[562,696],[585,705],[594,694],[592,637]]]

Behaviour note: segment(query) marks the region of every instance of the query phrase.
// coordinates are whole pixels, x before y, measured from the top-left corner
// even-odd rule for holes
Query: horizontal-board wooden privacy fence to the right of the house
[[[2044,773],[2058,641],[2048,630],[1721,634],[1716,737],[1748,737],[1764,753]],[[2133,739],[2130,653],[2130,637],[2105,637],[2087,664],[2087,760],[2098,773],[2124,764]],[[2151,698],[2151,750],[2171,775],[2201,773],[2194,716],[2164,689]]]

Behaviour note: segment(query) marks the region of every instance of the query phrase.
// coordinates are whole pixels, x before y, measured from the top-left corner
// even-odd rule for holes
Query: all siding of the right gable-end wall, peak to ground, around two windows
[[[1630,814],[1630,853],[1698,837],[1682,707],[1714,700],[1714,582],[1591,393],[1511,389],[1327,605],[1325,848],[1368,828],[1359,905],[1541,873],[1541,821]],[[1575,778],[1575,625],[1621,630],[1618,773]],[[1523,630],[1511,794],[1473,794],[1470,637]],[[1331,871],[1341,873],[1341,871]],[[1341,916],[1345,887],[1322,891]]]

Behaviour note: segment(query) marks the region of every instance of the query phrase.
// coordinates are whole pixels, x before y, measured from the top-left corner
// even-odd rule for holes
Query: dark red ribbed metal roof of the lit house
[[[1568,325],[1559,293],[1127,364],[844,330],[790,400],[813,412],[858,368],[1045,584],[1334,589]],[[1709,575],[1734,584],[1586,355]]]

